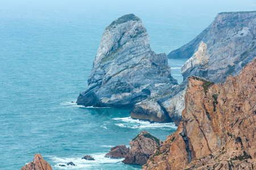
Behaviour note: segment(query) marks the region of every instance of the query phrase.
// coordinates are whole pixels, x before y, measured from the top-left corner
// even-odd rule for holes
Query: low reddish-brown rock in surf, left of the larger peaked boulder
[[[105,155],[106,158],[125,158],[125,155],[128,154],[130,151],[129,147],[126,147],[125,145],[118,145],[115,147],[110,148],[110,152]]]

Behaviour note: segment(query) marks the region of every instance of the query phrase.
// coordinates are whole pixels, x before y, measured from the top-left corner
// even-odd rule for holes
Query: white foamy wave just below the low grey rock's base
[[[113,118],[113,120],[118,121],[115,125],[121,128],[131,128],[131,129],[143,129],[143,128],[175,128],[175,124],[171,123],[158,123],[158,122],[150,122],[134,119],[131,117],[117,117]]]

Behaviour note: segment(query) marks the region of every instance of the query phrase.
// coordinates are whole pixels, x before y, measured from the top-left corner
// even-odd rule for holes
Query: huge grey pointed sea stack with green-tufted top
[[[124,15],[105,28],[88,90],[80,93],[77,104],[131,107],[174,84],[166,54],[151,51],[141,19]]]

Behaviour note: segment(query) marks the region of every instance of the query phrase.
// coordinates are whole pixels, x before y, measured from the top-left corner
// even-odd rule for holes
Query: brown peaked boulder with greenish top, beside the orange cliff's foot
[[[143,165],[161,144],[162,141],[160,139],[143,130],[129,143],[131,149],[122,162]]]

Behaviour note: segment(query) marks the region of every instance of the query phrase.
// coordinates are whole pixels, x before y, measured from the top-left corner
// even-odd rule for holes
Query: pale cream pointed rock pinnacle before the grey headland
[[[183,80],[187,80],[187,77],[192,75],[207,78],[208,62],[207,45],[201,41],[197,52],[181,67]]]

